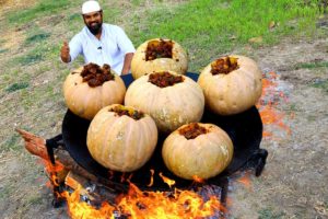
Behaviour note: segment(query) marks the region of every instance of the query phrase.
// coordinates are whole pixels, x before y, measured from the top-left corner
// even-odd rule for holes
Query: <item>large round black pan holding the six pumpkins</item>
[[[187,73],[187,77],[197,81],[197,73]],[[131,74],[122,76],[122,80],[128,88],[133,81]],[[219,116],[209,111],[204,111],[201,123],[212,123],[221,127],[227,132],[234,143],[234,157],[231,164],[220,175],[211,178],[210,181],[219,181],[224,176],[229,176],[239,169],[242,169],[251,159],[251,155],[259,150],[259,145],[262,138],[262,122],[260,115],[255,106],[250,110],[233,115],[233,116]],[[99,178],[110,180],[114,184],[125,184],[121,182],[122,174],[119,172],[112,172],[101,164],[98,164],[90,154],[86,147],[86,132],[90,120],[83,119],[74,115],[69,110],[67,111],[62,122],[62,139],[70,155],[90,173],[93,173]],[[154,154],[151,160],[140,170],[134,171],[131,182],[140,188],[148,188],[147,185],[151,180],[150,170],[154,170],[153,186],[156,189],[167,189],[168,186],[163,183],[159,176],[162,172],[164,176],[175,180],[176,187],[187,187],[190,181],[186,181],[175,176],[171,173],[162,160],[161,150],[162,143],[166,136],[160,135],[159,142]],[[113,174],[114,173],[114,174]],[[127,175],[127,174],[126,174]],[[128,183],[126,183],[128,186]]]

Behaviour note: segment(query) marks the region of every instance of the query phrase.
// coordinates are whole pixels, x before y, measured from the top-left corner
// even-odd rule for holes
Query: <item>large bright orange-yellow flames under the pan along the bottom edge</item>
[[[116,204],[103,203],[96,209],[84,201],[80,201],[79,189],[72,194],[62,194],[68,201],[71,218],[202,218],[223,211],[224,208],[215,196],[207,201],[192,191],[175,188],[174,192],[142,192],[134,184],[130,184],[129,192],[120,195]]]

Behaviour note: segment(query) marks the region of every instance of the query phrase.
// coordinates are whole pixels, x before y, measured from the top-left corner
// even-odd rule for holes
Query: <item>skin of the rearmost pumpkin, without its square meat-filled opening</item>
[[[160,38],[153,38],[144,42],[137,48],[131,61],[131,73],[134,79],[147,73],[162,70],[171,70],[179,74],[185,74],[187,72],[188,55],[185,49],[174,41],[172,41],[172,58],[156,58],[154,60],[145,59],[148,44],[160,41]],[[163,41],[168,42],[169,39]]]

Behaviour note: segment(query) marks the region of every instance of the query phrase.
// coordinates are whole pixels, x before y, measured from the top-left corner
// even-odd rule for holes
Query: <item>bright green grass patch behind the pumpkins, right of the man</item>
[[[189,50],[191,70],[262,37],[261,45],[280,36],[315,28],[318,8],[289,0],[191,0],[176,10],[154,10],[130,31],[134,45],[154,37],[172,38]],[[137,15],[134,20],[140,20]],[[293,22],[292,22],[293,21]],[[277,25],[269,28],[269,23]]]

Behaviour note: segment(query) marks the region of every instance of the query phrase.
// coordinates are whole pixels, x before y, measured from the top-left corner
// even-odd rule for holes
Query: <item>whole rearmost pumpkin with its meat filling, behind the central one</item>
[[[131,72],[134,79],[159,70],[185,74],[187,69],[187,53],[179,44],[171,39],[147,41],[137,48],[131,61]]]

